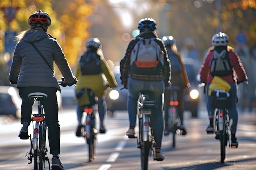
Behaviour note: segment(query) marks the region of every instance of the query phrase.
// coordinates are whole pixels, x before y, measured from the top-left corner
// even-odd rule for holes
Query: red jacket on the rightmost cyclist
[[[240,58],[238,57],[237,53],[235,51],[230,50],[229,52],[229,58],[231,61],[231,64],[233,66],[233,74],[222,76],[221,78],[226,80],[227,82],[236,82],[236,75],[238,77],[238,82],[243,82],[247,79],[247,75],[245,72],[245,68],[243,67],[243,64],[240,61]],[[211,58],[213,57],[213,50],[209,51],[204,59],[204,63],[201,66],[200,69],[200,78],[201,82],[204,83],[210,83],[213,79],[213,76],[210,74],[210,65],[211,65]],[[236,72],[236,75],[235,75]]]

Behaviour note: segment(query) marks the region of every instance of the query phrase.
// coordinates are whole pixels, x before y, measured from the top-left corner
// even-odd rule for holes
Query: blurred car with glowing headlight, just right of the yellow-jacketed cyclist
[[[117,87],[112,88],[106,95],[106,104],[108,112],[113,113],[115,110],[127,110],[128,90],[121,84],[120,66],[113,66],[111,69],[117,80]]]

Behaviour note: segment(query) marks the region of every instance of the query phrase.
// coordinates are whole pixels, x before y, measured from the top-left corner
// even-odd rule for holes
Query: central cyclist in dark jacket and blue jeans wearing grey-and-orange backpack
[[[170,61],[168,60],[164,42],[158,38],[157,33],[155,32],[155,30],[157,29],[157,23],[155,22],[155,20],[153,20],[152,18],[141,19],[139,21],[138,29],[140,31],[139,35],[130,41],[126,54],[120,62],[121,83],[126,89],[128,89],[129,92],[127,105],[130,128],[126,135],[128,135],[129,138],[135,137],[134,128],[136,124],[136,114],[138,110],[138,99],[140,96],[140,91],[152,91],[157,103],[157,108],[152,109],[153,130],[156,141],[156,160],[162,161],[164,159],[164,155],[161,152],[162,137],[164,131],[163,94],[165,87],[171,85],[171,65]],[[148,41],[148,39],[150,40]],[[156,42],[156,48],[154,47],[155,49],[148,50],[152,50],[152,53],[161,50],[162,55],[160,56],[161,61],[157,61],[158,64],[156,67],[150,67],[148,68],[149,70],[147,69],[147,67],[142,67],[142,69],[144,69],[145,71],[139,71],[137,73],[134,72],[136,70],[135,65],[131,65],[137,62],[132,62],[132,60],[134,60],[132,51],[135,50],[136,44],[141,42],[141,40],[145,41],[145,43],[147,41],[148,45],[151,43],[150,41]],[[140,48],[141,46],[143,45],[140,43],[138,48]],[[147,56],[147,54],[145,54],[145,56]],[[149,63],[149,65],[150,64],[151,63]]]

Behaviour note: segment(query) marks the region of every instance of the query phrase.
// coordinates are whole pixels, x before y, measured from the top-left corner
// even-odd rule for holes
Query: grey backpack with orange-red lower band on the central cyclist
[[[164,55],[156,38],[141,38],[130,55],[130,71],[138,75],[159,75],[164,66]]]

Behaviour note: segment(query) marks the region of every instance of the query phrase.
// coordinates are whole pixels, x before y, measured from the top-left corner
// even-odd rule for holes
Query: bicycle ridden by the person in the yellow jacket
[[[97,97],[90,88],[83,88],[80,91],[76,91],[76,97],[81,97],[84,93],[88,94],[90,104],[82,106],[81,109],[86,113],[85,123],[83,130],[81,130],[81,136],[86,139],[89,150],[89,161],[93,161],[95,156],[95,146],[97,145],[97,121],[96,121],[96,101]]]

